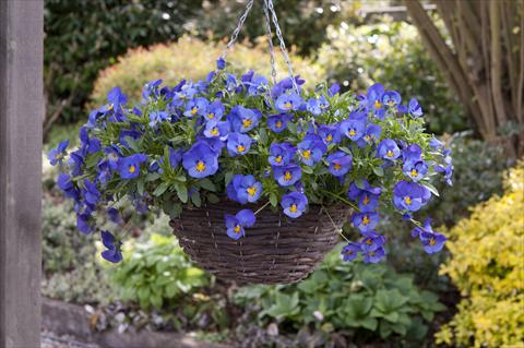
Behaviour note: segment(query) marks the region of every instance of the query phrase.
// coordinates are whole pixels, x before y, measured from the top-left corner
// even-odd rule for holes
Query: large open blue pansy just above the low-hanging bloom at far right
[[[431,197],[425,187],[409,181],[398,181],[393,188],[393,204],[398,211],[416,212]]]

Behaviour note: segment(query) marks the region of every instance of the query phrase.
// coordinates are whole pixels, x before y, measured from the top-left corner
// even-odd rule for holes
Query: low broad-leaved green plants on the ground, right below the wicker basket
[[[306,280],[288,286],[249,286],[234,297],[250,307],[260,325],[276,321],[298,331],[345,333],[353,341],[420,340],[436,312],[443,310],[434,293],[420,290],[409,275],[376,264],[343,263],[340,248]]]

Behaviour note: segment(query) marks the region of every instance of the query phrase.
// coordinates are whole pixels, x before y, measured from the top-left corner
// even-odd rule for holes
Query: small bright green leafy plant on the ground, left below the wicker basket
[[[211,281],[191,264],[174,237],[153,233],[146,242],[134,243],[127,256],[119,267],[108,267],[110,279],[123,300],[143,309],[179,303]]]

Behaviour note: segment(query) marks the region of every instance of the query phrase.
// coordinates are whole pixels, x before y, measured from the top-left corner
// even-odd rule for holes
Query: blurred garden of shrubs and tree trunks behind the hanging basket
[[[275,4],[295,71],[307,83],[338,82],[343,89],[365,91],[380,82],[416,97],[428,131],[452,147],[453,187],[439,188],[441,199],[426,209],[450,239],[443,253],[406,248],[408,225],[385,220],[380,230],[394,238],[381,264],[342,263],[335,249],[297,285],[239,287],[192,264],[171,236],[168,217],[135,215],[130,206],[133,238],[115,267],[98,256],[99,243],[78,233],[73,206],[59,193],[55,169],[45,165],[41,293],[88,309],[93,331],[122,335],[191,333],[248,347],[523,346],[524,167],[519,155],[524,94],[523,82],[512,81],[514,73],[524,73],[514,68],[524,61],[523,3],[502,2],[495,9],[489,1],[468,4],[474,15],[477,5],[479,13],[496,11],[489,28],[498,17],[503,25],[499,34],[487,34],[491,40],[473,37],[464,50],[463,38],[476,33],[472,26],[450,26],[449,2],[424,1],[424,14],[417,1],[407,7],[394,0]],[[243,5],[234,0],[46,0],[45,152],[63,139],[73,141],[114,86],[133,101],[148,81],[204,77]],[[505,5],[514,7],[516,20]],[[257,3],[229,55],[238,72],[270,72],[261,14]],[[484,29],[483,23],[477,24]],[[467,56],[475,56],[477,44],[479,50],[488,45],[493,56],[497,35],[503,59],[473,64],[492,74],[479,73],[466,83],[468,99],[456,75],[462,72],[468,81]],[[440,51],[448,47],[455,61],[439,58],[431,45]],[[500,81],[493,82],[497,75]],[[479,94],[478,81],[491,88]],[[492,98],[495,111],[481,100],[471,101],[474,96]],[[509,105],[503,112],[498,97]]]

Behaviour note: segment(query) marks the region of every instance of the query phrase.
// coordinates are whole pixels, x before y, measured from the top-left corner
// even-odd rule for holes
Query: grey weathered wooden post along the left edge
[[[44,0],[0,0],[0,347],[40,347]]]

